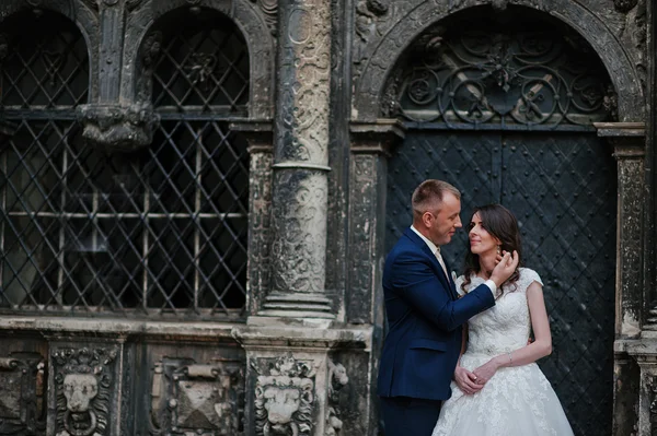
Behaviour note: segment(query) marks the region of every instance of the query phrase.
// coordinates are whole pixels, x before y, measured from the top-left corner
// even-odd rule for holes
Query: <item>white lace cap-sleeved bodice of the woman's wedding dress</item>
[[[468,321],[468,354],[502,354],[527,345],[531,328],[527,288],[532,282],[539,282],[539,274],[528,268],[520,268],[520,278],[512,285],[504,287],[504,295],[497,298],[495,306]],[[484,282],[473,275],[468,291]],[[463,276],[457,279],[457,291],[462,294]]]

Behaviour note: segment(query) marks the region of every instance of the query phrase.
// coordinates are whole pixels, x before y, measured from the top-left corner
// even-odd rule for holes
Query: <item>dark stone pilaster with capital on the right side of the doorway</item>
[[[636,355],[649,328],[644,323],[644,219],[645,219],[645,129],[641,122],[596,123],[598,135],[613,145],[618,162],[618,212],[616,212],[616,285],[615,285],[615,343],[613,435],[631,435],[636,432],[639,417],[636,410],[645,402],[648,388],[645,374],[652,369],[642,366],[641,376]],[[648,333],[649,335],[649,333]],[[650,341],[649,339],[647,341]],[[629,344],[631,344],[629,346]],[[645,358],[644,358],[645,361]],[[657,373],[656,373],[657,374]],[[645,404],[644,404],[645,405]],[[643,408],[643,405],[642,405]],[[643,410],[643,409],[642,409]],[[644,417],[645,421],[645,417]],[[644,424],[645,426],[645,424]],[[649,434],[649,433],[639,433]]]

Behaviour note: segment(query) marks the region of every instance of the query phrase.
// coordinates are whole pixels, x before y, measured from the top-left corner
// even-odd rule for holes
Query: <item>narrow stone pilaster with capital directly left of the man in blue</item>
[[[351,122],[349,182],[349,292],[347,320],[383,323],[381,270],[385,239],[385,188],[388,157],[404,138],[404,127],[394,119]],[[367,302],[367,303],[366,303]],[[366,304],[364,304],[366,303]]]

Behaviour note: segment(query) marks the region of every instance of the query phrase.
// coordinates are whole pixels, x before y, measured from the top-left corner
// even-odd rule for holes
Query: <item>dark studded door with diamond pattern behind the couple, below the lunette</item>
[[[461,219],[502,203],[519,220],[523,261],[545,284],[553,353],[539,364],[576,435],[611,434],[615,163],[591,133],[411,131],[389,162],[387,247],[411,224],[411,195],[438,178],[462,192]],[[445,250],[460,271],[464,229]]]

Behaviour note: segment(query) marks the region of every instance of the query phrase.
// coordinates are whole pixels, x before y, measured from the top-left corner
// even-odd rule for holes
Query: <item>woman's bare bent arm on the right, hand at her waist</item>
[[[545,301],[543,299],[543,287],[540,283],[533,282],[527,288],[527,304],[529,306],[531,327],[535,340],[511,353],[495,356],[486,364],[476,368],[474,374],[477,376],[477,382],[488,381],[495,372],[502,367],[527,365],[552,353],[550,320],[548,319],[548,310],[545,309]]]

